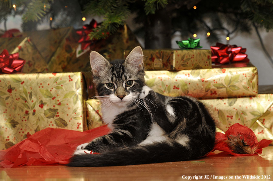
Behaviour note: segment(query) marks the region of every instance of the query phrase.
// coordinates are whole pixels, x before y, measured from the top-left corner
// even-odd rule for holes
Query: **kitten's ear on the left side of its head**
[[[109,62],[98,52],[92,51],[90,53],[90,64],[93,75],[98,76],[99,73],[109,65]]]

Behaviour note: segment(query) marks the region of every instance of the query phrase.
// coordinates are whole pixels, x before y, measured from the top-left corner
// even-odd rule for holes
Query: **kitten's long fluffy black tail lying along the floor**
[[[195,154],[192,154],[195,153]],[[178,143],[157,142],[149,145],[117,148],[101,154],[75,155],[67,166],[121,166],[192,160],[203,156]]]

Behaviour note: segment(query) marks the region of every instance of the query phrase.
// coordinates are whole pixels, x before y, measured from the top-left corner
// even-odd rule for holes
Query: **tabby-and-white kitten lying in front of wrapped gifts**
[[[143,53],[108,62],[90,53],[103,122],[111,132],[77,147],[68,166],[117,166],[192,160],[214,147],[215,123],[192,97],[168,97],[145,86]],[[88,154],[90,152],[100,154]]]

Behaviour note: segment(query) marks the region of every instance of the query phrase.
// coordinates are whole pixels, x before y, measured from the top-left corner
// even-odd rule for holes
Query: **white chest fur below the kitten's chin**
[[[118,106],[110,106],[110,107],[104,107],[102,106],[102,118],[103,122],[108,125],[110,129],[113,129],[113,121],[116,118],[117,115],[124,112],[126,110],[125,107],[118,107]]]

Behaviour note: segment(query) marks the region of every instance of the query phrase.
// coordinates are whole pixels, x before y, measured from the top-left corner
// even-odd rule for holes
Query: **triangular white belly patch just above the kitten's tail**
[[[165,131],[162,128],[160,128],[160,126],[157,123],[153,123],[151,130],[148,134],[148,137],[144,141],[142,141],[140,145],[167,141],[168,137],[165,134],[166,134]]]

